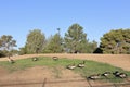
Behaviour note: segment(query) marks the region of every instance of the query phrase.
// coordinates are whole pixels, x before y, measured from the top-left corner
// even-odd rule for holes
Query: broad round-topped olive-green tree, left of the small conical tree
[[[30,30],[27,36],[27,53],[41,53],[44,46],[46,36],[40,29]]]

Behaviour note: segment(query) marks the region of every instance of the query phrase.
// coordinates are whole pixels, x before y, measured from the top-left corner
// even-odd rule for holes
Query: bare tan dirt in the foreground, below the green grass
[[[47,79],[47,83],[50,83],[46,87],[83,87],[86,85],[86,80],[75,82],[82,79],[80,75],[63,67],[60,67],[60,71],[47,66],[35,66],[13,73],[8,73],[4,69],[0,69],[0,72],[4,73],[0,73],[0,76],[2,76],[0,86],[2,84],[3,86],[8,85],[8,87],[42,87],[44,79]]]

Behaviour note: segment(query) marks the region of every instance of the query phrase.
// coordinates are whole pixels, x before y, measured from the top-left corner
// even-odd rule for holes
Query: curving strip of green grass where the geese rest
[[[2,61],[0,62],[0,66],[3,66],[4,69],[9,70],[9,72],[15,72],[15,71],[20,71],[20,70],[25,70],[27,67],[32,67],[32,66],[40,66],[40,65],[44,65],[44,66],[49,66],[54,69],[54,73],[61,74],[61,71],[58,69],[58,66],[62,66],[64,69],[66,69],[66,66],[68,64],[78,64],[81,63],[83,60],[78,60],[78,59],[60,59],[57,61],[52,60],[51,58],[44,58],[44,57],[39,57],[38,61],[31,61],[31,58],[28,59],[22,59],[22,60],[16,60],[14,64],[9,63],[8,61]],[[109,64],[106,63],[99,63],[99,62],[94,62],[94,61],[86,61],[86,66],[80,69],[80,67],[76,67],[75,70],[72,70],[76,73],[79,73],[81,76],[87,77],[93,74],[102,74],[104,72],[115,72],[115,71],[119,71],[119,72],[123,72],[127,73],[128,76],[130,76],[130,72],[123,71],[119,67],[115,67],[112,66]],[[104,77],[102,77],[104,78]],[[105,78],[104,78],[105,79]],[[109,76],[109,82],[122,82],[121,78],[116,78],[113,75]]]

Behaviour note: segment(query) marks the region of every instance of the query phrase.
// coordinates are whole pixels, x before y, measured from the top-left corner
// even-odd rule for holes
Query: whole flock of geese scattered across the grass
[[[52,57],[52,59],[53,59],[54,61],[57,61],[57,60],[58,60],[57,57]],[[32,60],[32,61],[38,61],[39,58],[34,57],[34,58],[31,58],[31,60]],[[11,64],[15,63],[15,61],[14,61],[13,59],[11,59],[11,58],[9,58],[9,62],[10,62]],[[82,62],[78,63],[77,65],[76,65],[75,63],[69,64],[69,65],[66,66],[66,69],[68,69],[68,70],[74,70],[74,69],[76,69],[76,67],[82,69],[82,67],[86,66],[84,63],[86,63],[86,61],[83,60]],[[102,74],[93,74],[93,75],[87,76],[87,79],[93,79],[93,80],[95,80],[95,79],[102,78],[102,76],[104,76],[104,77],[106,77],[106,78],[109,78],[110,75],[113,75],[113,76],[115,76],[115,77],[119,77],[119,78],[127,78],[127,77],[128,77],[128,75],[127,75],[126,73],[122,73],[122,72],[119,72],[119,71],[115,71],[115,72],[113,72],[113,73],[112,73],[112,72],[104,72],[104,73],[102,73]]]

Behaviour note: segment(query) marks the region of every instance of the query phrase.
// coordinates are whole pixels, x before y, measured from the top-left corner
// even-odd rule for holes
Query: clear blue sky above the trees
[[[0,36],[12,35],[23,47],[29,30],[47,37],[78,23],[87,38],[100,42],[110,29],[130,28],[130,0],[0,0]]]

